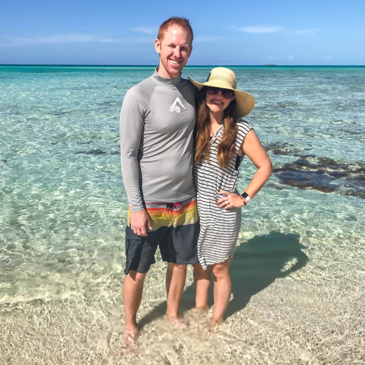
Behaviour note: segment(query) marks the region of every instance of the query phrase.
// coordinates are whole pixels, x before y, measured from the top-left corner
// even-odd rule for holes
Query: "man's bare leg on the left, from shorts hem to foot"
[[[138,327],[136,316],[142,300],[143,283],[146,275],[147,273],[130,270],[124,278],[123,307],[126,318],[124,339],[128,350],[133,350],[137,347]]]

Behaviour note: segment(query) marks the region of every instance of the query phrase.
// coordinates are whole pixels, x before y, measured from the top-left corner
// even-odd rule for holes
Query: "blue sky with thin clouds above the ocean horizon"
[[[194,31],[188,65],[364,65],[364,1],[6,1],[0,64],[155,65],[170,16]]]

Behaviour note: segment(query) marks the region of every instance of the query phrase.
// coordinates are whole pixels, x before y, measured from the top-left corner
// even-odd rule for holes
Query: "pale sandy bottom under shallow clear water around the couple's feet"
[[[203,330],[209,314],[189,312],[191,267],[181,304],[189,327],[166,323],[166,266],[157,262],[138,314],[137,354],[122,352],[122,272],[104,276],[99,292],[1,304],[0,364],[365,364],[364,242],[350,255],[333,243],[312,240],[307,249],[280,233],[242,243],[228,318],[213,333]]]

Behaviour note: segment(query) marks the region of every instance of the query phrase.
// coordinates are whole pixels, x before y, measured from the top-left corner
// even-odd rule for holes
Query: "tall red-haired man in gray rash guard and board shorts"
[[[160,247],[166,273],[166,315],[178,321],[188,264],[196,264],[199,222],[192,177],[195,96],[180,77],[192,51],[185,18],[161,24],[160,65],[132,87],[120,112],[120,155],[129,207],[123,305],[127,346],[135,346],[143,282]]]

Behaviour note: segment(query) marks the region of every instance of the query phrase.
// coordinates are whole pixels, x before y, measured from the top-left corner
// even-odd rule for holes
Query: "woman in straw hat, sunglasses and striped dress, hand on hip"
[[[249,114],[254,98],[236,89],[233,71],[211,70],[199,90],[196,119],[194,179],[200,219],[199,264],[194,265],[195,310],[208,309],[211,272],[214,311],[208,324],[222,322],[231,296],[230,262],[241,227],[241,208],[265,184],[272,172],[270,158],[250,124],[239,119]],[[239,166],[247,155],[257,167],[242,195],[237,192]]]

